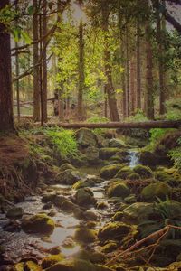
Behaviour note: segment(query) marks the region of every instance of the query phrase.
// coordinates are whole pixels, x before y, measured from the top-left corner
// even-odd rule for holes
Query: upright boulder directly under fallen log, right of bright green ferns
[[[87,148],[89,146],[99,147],[97,135],[95,135],[90,129],[81,128],[77,130],[75,136],[78,144],[83,148]]]

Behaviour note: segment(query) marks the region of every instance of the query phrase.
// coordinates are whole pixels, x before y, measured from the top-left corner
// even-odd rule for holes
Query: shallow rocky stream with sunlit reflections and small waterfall
[[[138,152],[136,150],[129,151],[129,166],[134,167],[138,164]],[[87,167],[79,169],[82,173],[87,173],[88,177],[95,177],[99,168]],[[106,210],[98,210],[91,208],[98,216],[96,229],[99,229],[114,214],[114,203],[105,196],[105,187],[108,181],[101,182],[91,190],[95,199],[108,204]],[[68,185],[50,185],[44,192],[56,192],[57,194],[70,197],[72,195],[72,187]],[[36,258],[37,260],[47,255],[47,251],[53,247],[60,247],[65,257],[70,257],[80,250],[80,245],[73,241],[76,228],[82,223],[72,214],[63,213],[60,209],[52,207],[51,210],[43,210],[44,203],[41,195],[34,195],[25,198],[23,202],[17,203],[16,207],[21,207],[25,214],[47,213],[52,215],[55,222],[55,229],[49,237],[42,237],[37,234],[26,234],[20,227],[20,220],[13,220],[13,226],[7,227],[9,220],[5,214],[0,213],[0,248],[5,249],[3,264],[14,264],[24,258]],[[10,224],[11,225],[11,224]],[[69,243],[71,242],[71,246]],[[68,245],[67,245],[68,244]],[[1,263],[1,262],[0,262]]]

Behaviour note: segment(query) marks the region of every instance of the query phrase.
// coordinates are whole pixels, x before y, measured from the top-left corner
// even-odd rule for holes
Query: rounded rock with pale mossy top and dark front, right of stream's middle
[[[111,181],[107,190],[108,196],[111,197],[121,197],[126,198],[129,196],[129,187],[124,181]]]

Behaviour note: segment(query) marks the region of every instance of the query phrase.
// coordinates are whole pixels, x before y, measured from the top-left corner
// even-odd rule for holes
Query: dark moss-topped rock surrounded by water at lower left
[[[22,220],[22,229],[27,233],[49,235],[52,233],[54,226],[54,221],[46,214],[37,214]]]

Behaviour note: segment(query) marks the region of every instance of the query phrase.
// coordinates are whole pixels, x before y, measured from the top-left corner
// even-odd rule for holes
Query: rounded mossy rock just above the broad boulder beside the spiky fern
[[[172,188],[165,182],[150,183],[141,191],[141,197],[145,201],[155,201],[157,197],[166,200],[172,192]]]

